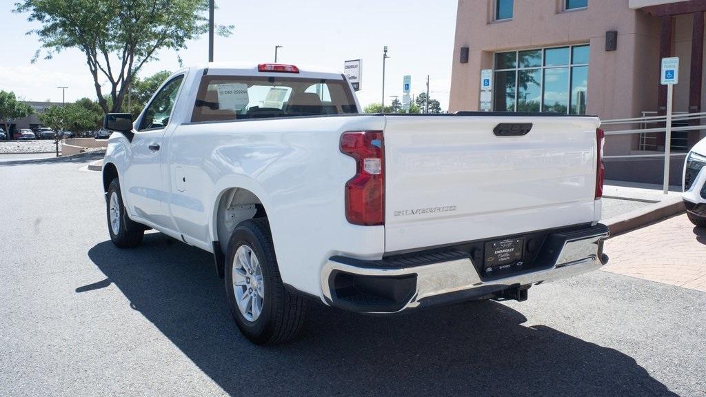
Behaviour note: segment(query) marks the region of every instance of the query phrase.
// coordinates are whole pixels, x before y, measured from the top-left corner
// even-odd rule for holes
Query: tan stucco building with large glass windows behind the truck
[[[486,109],[601,119],[664,114],[660,59],[679,57],[674,111],[701,112],[704,11],[704,0],[459,0],[449,110],[481,109],[481,70],[492,69]],[[638,126],[618,129],[629,128]],[[674,132],[671,147],[686,151],[702,136]],[[659,153],[664,133],[611,136],[605,150]],[[678,177],[683,157],[673,162]],[[661,167],[659,159],[606,164],[608,177],[641,182],[661,181]]]

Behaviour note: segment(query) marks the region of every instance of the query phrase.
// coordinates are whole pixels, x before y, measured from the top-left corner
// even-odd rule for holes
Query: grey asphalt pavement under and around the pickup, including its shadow
[[[0,396],[706,396],[706,292],[603,271],[252,345],[210,254],[112,245],[91,160],[0,163]]]

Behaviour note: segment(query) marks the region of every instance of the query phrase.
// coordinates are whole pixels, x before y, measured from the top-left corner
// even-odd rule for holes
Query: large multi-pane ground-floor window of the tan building
[[[588,45],[495,54],[496,112],[586,114]]]

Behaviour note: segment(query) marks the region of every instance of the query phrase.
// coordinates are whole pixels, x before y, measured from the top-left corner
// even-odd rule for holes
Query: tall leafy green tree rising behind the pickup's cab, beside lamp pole
[[[162,49],[179,52],[208,31],[208,0],[21,0],[15,12],[30,13],[41,27],[30,31],[42,48],[34,60],[55,52],[83,52],[103,112],[122,109],[128,87],[140,69]],[[233,26],[219,26],[229,35]],[[100,81],[107,79],[112,106]]]

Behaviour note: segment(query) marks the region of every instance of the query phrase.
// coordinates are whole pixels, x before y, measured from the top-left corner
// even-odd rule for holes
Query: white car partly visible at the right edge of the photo
[[[691,148],[684,162],[682,198],[686,206],[686,215],[691,223],[706,227],[706,139]]]

